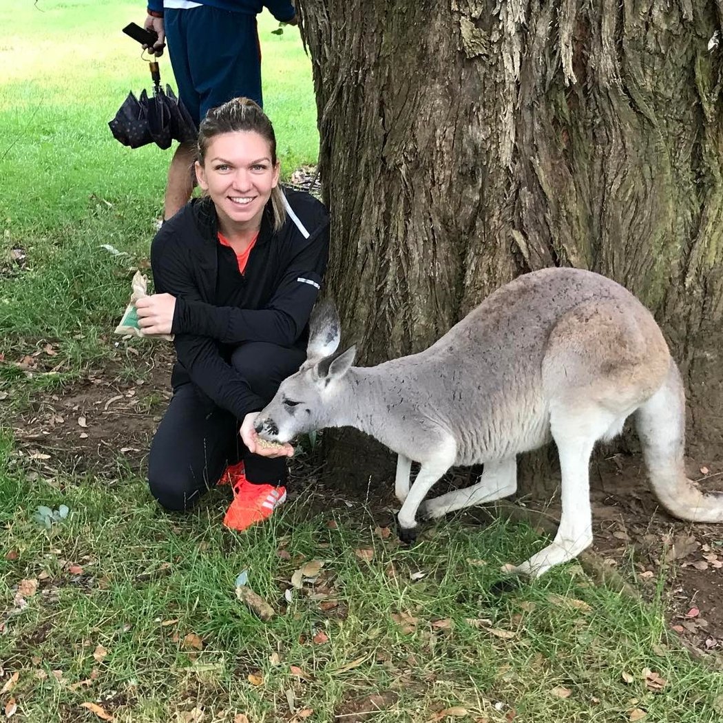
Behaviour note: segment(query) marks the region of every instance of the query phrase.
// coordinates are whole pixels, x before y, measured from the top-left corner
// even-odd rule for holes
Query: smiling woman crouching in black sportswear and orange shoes
[[[205,195],[158,231],[151,265],[159,293],[137,301],[141,328],[174,333],[177,356],[148,479],[171,510],[231,482],[224,524],[241,530],[286,499],[294,450],[260,444],[253,422],[306,356],[328,215],[309,194],[279,187],[273,127],[253,100],[209,111],[198,147]]]

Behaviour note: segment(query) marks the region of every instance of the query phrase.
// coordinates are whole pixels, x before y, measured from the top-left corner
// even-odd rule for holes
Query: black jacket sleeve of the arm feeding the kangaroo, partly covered
[[[173,236],[162,234],[160,231],[153,239],[150,249],[156,291],[173,294],[178,299],[200,301],[187,250],[179,248]],[[179,363],[192,382],[218,406],[231,411],[236,419],[243,419],[250,411],[259,411],[265,406],[246,380],[223,359],[213,339],[179,333],[174,338],[174,346]]]

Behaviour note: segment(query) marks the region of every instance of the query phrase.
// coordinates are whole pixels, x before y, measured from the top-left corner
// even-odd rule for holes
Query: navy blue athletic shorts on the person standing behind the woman
[[[239,95],[263,106],[255,15],[201,5],[166,8],[163,20],[179,98],[196,124]]]

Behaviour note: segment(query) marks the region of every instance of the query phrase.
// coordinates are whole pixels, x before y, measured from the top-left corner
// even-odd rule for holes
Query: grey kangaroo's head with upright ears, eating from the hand
[[[320,301],[309,321],[307,360],[281,382],[275,397],[262,409],[254,427],[260,437],[290,442],[296,435],[333,426],[336,392],[354,363],[356,348],[337,353],[339,319],[331,301]]]

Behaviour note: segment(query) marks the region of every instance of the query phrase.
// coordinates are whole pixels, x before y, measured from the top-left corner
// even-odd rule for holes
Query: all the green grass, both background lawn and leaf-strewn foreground
[[[162,411],[166,387],[149,372],[160,347],[111,334],[132,273],[146,268],[170,159],[122,147],[106,126],[129,90],[150,86],[120,32],[143,10],[0,0],[0,719],[723,719],[721,672],[669,636],[664,578],[649,603],[595,586],[576,563],[495,592],[500,565],[546,544],[534,530],[452,515],[407,549],[380,527],[390,515],[374,490],[367,503],[333,477],[320,487],[308,475],[270,522],[233,534],[221,526],[227,491],[187,515],[161,512],[133,471],[147,450],[131,469],[122,445],[101,444],[107,422],[103,472],[76,471],[69,450],[46,454],[42,434],[23,435],[36,413],[46,429],[60,424],[48,410],[93,388],[91,366],[93,382],[108,382],[91,426],[120,381],[146,395],[147,417]],[[276,26],[260,18],[266,110],[288,173],[316,160],[315,101],[298,30],[277,37]],[[77,436],[85,419],[66,409]],[[46,529],[40,505],[67,515]],[[294,586],[313,561],[322,568]],[[275,609],[267,623],[236,598],[244,570]]]

